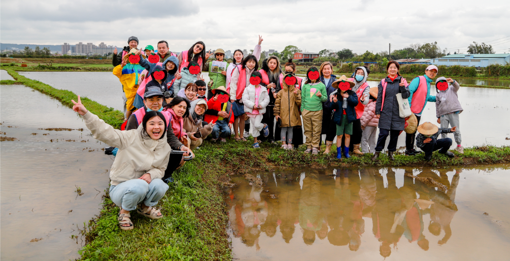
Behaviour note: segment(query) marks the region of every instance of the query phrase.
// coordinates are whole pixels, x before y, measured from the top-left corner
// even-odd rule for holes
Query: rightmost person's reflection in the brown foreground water
[[[433,172],[427,173],[429,177],[445,185],[448,190],[446,193],[438,190],[430,190],[430,199],[434,202],[430,206],[430,224],[428,231],[434,236],[441,234],[441,229],[445,231],[443,239],[438,241],[439,245],[446,244],[451,237],[450,223],[453,216],[457,212],[457,205],[455,204],[455,192],[457,190],[458,181],[460,180],[460,173],[462,170],[456,170],[453,175],[451,184],[446,175],[447,170],[442,169],[439,171],[439,176]],[[423,172],[422,172],[423,173]],[[420,174],[421,175],[421,174]]]

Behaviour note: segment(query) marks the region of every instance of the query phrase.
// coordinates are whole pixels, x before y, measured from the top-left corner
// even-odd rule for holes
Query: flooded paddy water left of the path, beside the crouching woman
[[[99,214],[113,161],[88,130],[76,130],[85,124],[59,101],[20,85],[0,88],[1,136],[16,139],[0,143],[0,257],[77,258],[78,228]],[[30,102],[18,105],[19,97]],[[55,127],[74,130],[39,129]]]

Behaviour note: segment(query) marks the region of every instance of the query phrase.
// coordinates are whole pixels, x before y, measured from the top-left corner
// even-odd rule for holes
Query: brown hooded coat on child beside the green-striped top
[[[294,88],[289,88],[285,82],[283,89],[276,95],[273,114],[280,116],[282,127],[301,126],[299,106],[301,106],[301,90],[294,93]]]

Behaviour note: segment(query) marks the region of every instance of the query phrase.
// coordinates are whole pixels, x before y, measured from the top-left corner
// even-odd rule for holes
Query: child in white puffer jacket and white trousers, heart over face
[[[262,124],[263,114],[266,112],[266,106],[269,104],[269,94],[267,89],[260,85],[262,74],[253,71],[250,76],[250,85],[243,91],[244,112],[250,117],[251,136],[253,136],[253,148],[259,148],[257,137],[260,131],[264,131],[264,137],[269,136],[269,127]]]

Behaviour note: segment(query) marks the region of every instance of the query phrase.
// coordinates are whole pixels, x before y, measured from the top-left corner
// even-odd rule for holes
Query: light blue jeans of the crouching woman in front
[[[150,184],[143,179],[131,179],[117,186],[110,186],[110,198],[123,210],[136,210],[138,204],[155,206],[165,195],[168,185],[160,178],[152,179]]]

